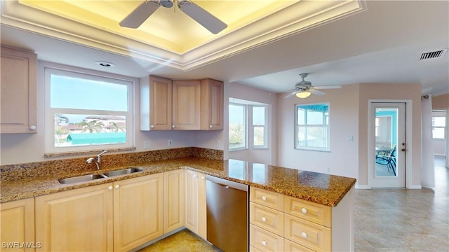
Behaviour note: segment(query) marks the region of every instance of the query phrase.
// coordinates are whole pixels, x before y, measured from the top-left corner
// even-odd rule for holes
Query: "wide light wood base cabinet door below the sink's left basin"
[[[37,251],[112,251],[112,194],[107,183],[36,197]]]

